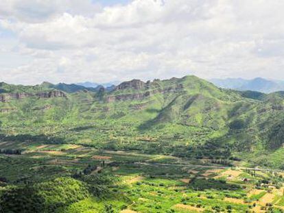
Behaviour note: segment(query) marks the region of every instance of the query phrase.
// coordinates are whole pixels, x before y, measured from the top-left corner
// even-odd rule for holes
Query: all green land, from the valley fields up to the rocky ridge
[[[282,92],[194,76],[0,91],[0,212],[283,210]]]

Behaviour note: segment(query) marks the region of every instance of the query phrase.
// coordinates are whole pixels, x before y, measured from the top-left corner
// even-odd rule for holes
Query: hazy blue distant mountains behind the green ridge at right
[[[257,77],[255,79],[227,78],[210,79],[210,82],[221,88],[230,88],[235,90],[252,90],[257,92],[276,92],[284,90],[284,82]]]

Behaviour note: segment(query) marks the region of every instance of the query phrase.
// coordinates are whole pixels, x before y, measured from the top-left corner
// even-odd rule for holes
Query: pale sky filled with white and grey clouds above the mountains
[[[0,0],[0,82],[284,79],[283,0]]]

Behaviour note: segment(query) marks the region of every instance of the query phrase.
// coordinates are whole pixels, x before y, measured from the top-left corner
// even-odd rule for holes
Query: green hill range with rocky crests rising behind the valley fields
[[[217,88],[195,76],[75,84],[0,84],[1,140],[40,140],[284,166],[284,94]],[[244,155],[246,153],[246,155]]]

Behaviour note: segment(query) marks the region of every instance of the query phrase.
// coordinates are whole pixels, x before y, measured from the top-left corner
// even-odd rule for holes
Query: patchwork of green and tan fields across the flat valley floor
[[[4,147],[13,145],[2,143],[0,149]],[[281,212],[284,208],[284,179],[276,171],[81,145],[26,144],[22,155],[1,154],[0,161],[0,177],[7,179],[1,182],[2,191],[60,177],[76,179],[75,174],[86,171],[91,177],[113,177],[108,195],[84,196],[54,209],[58,213]]]

